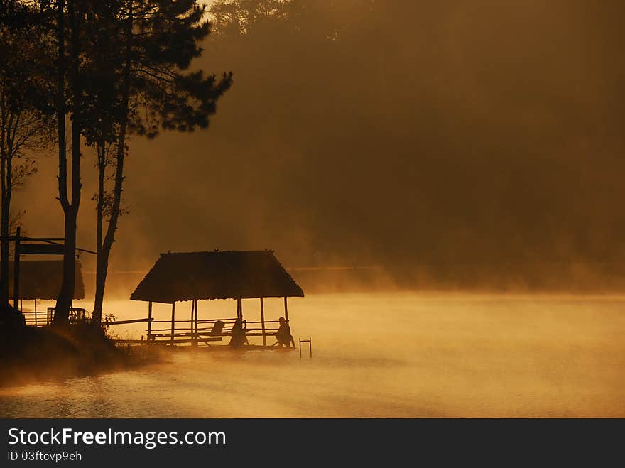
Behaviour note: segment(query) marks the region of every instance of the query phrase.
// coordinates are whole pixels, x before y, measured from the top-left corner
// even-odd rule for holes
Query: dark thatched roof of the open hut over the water
[[[272,251],[214,251],[161,254],[132,300],[303,297]]]

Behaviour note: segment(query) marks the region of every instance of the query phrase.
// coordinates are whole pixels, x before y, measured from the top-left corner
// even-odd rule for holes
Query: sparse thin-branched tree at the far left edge
[[[13,190],[36,173],[36,151],[50,143],[42,103],[47,47],[36,12],[16,0],[2,0],[0,21],[0,301],[9,300],[9,241]],[[27,38],[27,40],[25,40]]]

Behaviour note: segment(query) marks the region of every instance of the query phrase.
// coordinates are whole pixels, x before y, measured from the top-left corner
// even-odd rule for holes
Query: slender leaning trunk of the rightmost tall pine
[[[115,185],[113,188],[113,205],[111,207],[111,218],[107,226],[107,234],[102,242],[102,249],[99,251],[96,273],[96,295],[94,304],[94,322],[96,322],[96,310],[99,313],[99,320],[102,320],[102,303],[104,300],[104,287],[107,282],[107,271],[109,268],[109,256],[115,241],[115,232],[119,222],[119,210],[121,209],[121,192],[124,183],[124,156],[126,156],[126,131],[128,127],[128,112],[130,100],[130,75],[131,75],[131,46],[132,46],[132,26],[133,26],[133,2],[129,2],[128,23],[126,24],[126,64],[124,65],[124,82],[122,84],[123,102],[122,118],[119,124],[119,134],[117,136],[117,151],[115,160]],[[103,190],[103,189],[102,189]]]

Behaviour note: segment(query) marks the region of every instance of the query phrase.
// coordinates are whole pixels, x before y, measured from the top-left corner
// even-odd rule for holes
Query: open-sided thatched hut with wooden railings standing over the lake
[[[283,298],[284,317],[288,323],[288,298],[303,296],[302,288],[283,268],[273,251],[263,250],[161,254],[130,298],[148,303],[148,318],[145,320],[148,322],[148,343],[162,342],[164,338],[172,345],[221,341],[222,336],[230,334],[237,319],[244,319],[242,300],[257,298],[261,320],[246,320],[246,335],[262,337],[263,346],[266,346],[267,337],[276,334],[278,320],[265,320],[263,298]],[[237,317],[200,320],[197,302],[216,299],[236,300]],[[192,303],[190,320],[177,321],[175,305],[183,301]],[[165,322],[153,320],[152,303],[171,304],[170,327],[152,327]]]

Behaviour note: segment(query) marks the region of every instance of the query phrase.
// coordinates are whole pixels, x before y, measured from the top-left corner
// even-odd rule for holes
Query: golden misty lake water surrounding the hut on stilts
[[[624,306],[625,298],[312,295],[289,303],[295,341],[312,337],[312,360],[178,349],[141,369],[1,389],[0,416],[624,417]],[[119,320],[146,316],[143,303],[109,307]],[[200,303],[200,318],[235,310],[232,301]],[[281,301],[266,300],[265,310],[276,320]],[[170,318],[168,306],[154,312]],[[176,312],[190,315],[190,303]],[[257,301],[245,300],[244,314],[258,320]],[[145,333],[118,328],[123,337]]]

